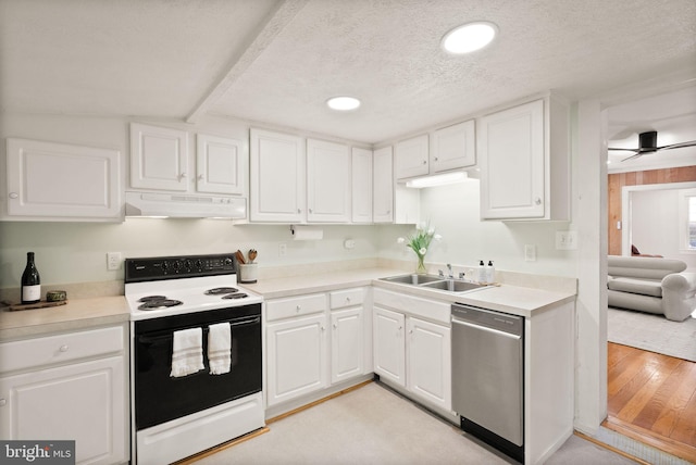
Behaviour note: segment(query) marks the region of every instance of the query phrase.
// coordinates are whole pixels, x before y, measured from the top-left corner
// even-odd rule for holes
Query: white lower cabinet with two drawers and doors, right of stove
[[[353,288],[266,302],[266,406],[372,370],[365,298],[364,288]]]

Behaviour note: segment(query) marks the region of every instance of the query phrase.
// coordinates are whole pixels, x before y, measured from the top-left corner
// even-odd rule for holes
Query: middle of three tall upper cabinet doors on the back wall
[[[307,221],[350,221],[350,152],[348,146],[308,139]]]

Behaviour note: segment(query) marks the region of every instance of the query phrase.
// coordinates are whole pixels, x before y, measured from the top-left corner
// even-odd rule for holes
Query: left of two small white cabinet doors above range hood
[[[130,186],[187,191],[188,133],[130,124]]]

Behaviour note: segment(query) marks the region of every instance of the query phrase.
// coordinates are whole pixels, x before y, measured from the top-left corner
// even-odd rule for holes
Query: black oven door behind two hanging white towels
[[[208,326],[229,322],[229,373],[210,375]],[[170,377],[173,332],[203,329],[204,369],[181,378]],[[261,391],[261,304],[167,316],[135,322],[135,423],[141,430]]]

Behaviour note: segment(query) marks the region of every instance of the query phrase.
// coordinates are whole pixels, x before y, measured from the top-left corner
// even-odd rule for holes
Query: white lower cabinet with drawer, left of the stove
[[[0,344],[0,438],[74,440],[77,464],[127,462],[125,347],[122,326]]]

